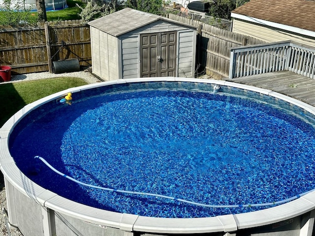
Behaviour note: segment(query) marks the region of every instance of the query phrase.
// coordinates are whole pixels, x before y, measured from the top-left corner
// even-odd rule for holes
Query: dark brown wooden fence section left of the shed
[[[25,28],[0,27],[0,65],[12,74],[51,71],[52,61],[79,59],[91,65],[90,28],[81,21],[46,22]]]

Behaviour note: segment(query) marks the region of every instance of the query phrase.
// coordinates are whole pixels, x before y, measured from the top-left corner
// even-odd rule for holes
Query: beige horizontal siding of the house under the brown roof
[[[305,35],[296,35],[282,29],[264,27],[237,19],[233,20],[232,31],[235,33],[249,35],[265,42],[293,40],[295,42],[315,47],[315,38],[307,37]]]

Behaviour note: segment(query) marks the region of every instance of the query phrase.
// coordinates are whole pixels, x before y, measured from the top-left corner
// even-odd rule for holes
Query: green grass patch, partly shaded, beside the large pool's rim
[[[87,84],[83,79],[74,77],[0,84],[0,127],[29,103],[64,89]]]

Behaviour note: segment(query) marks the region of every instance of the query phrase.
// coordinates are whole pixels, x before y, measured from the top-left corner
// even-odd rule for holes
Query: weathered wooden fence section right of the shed
[[[198,73],[205,72],[214,79],[229,76],[230,50],[244,45],[264,43],[253,37],[220,29],[215,26],[169,14],[169,19],[198,27],[198,44],[196,64]]]

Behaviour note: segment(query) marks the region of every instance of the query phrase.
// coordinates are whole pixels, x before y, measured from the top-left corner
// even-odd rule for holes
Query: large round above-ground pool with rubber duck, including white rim
[[[312,234],[314,114],[228,81],[66,89],[0,128],[8,221],[24,236]]]

